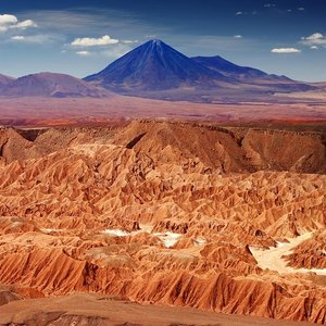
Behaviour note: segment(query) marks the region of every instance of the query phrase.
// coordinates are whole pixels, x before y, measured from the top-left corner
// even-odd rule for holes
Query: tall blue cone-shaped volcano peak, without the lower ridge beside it
[[[210,86],[227,82],[221,73],[176,51],[161,40],[151,40],[117,59],[98,74],[85,78],[113,90],[163,90],[180,86]]]

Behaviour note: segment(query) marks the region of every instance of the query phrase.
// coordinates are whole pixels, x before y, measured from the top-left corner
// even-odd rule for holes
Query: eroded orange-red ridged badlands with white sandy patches
[[[0,148],[0,324],[114,325],[87,293],[326,322],[323,133],[134,121]],[[75,299],[51,298],[75,292],[63,317]]]

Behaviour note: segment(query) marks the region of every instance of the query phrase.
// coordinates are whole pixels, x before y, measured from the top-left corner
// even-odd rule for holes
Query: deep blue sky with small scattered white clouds
[[[0,0],[0,74],[85,77],[150,39],[326,80],[326,0]]]

